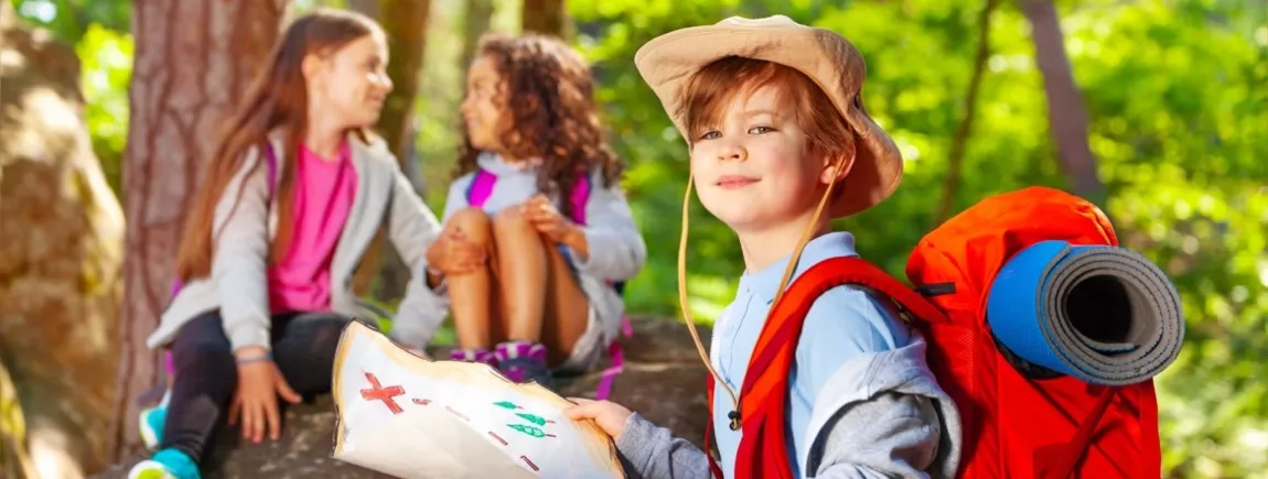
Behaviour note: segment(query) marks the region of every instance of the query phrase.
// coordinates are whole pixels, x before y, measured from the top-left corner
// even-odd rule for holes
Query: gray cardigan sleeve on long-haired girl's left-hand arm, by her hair
[[[216,205],[212,280],[233,350],[269,342],[269,177],[252,150]]]

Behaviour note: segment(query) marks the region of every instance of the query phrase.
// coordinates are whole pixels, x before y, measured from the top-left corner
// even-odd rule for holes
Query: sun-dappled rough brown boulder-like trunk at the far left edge
[[[51,38],[0,5],[0,456],[82,478],[112,460],[124,222]]]

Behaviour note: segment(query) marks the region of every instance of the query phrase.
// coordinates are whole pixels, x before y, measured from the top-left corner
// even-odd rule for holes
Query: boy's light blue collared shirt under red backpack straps
[[[828,233],[806,243],[789,284],[815,264],[837,256],[857,256],[853,234]],[[761,271],[746,272],[739,280],[735,300],[727,305],[714,324],[710,347],[714,369],[737,394],[787,261],[789,257],[784,257]],[[898,319],[893,308],[876,302],[864,289],[837,286],[814,302],[801,326],[795,364],[789,374],[789,437],[792,440],[789,457],[794,459],[792,476],[800,478],[805,469],[808,442],[813,437],[806,431],[810,412],[828,379],[855,356],[902,347],[910,340],[910,329]],[[741,431],[728,427],[730,419],[727,413],[732,408],[727,390],[721,384],[714,385],[714,436],[727,478],[735,476],[741,438]]]

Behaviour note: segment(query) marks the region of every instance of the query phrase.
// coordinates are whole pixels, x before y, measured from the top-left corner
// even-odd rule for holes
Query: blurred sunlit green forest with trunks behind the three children
[[[157,375],[157,356],[142,341],[166,304],[179,218],[214,139],[210,127],[241,94],[278,27],[323,5],[368,13],[387,28],[397,90],[380,131],[436,212],[478,35],[536,30],[579,48],[593,63],[611,141],[631,165],[625,186],[648,241],[649,262],[628,288],[629,308],[664,317],[680,317],[680,223],[668,219],[681,212],[686,151],[634,70],[634,52],[661,33],[728,15],[785,14],[842,32],[867,58],[870,112],[907,158],[899,194],[838,224],[858,234],[861,252],[904,278],[907,253],[922,234],[988,195],[1049,185],[1092,199],[1122,243],[1164,267],[1182,294],[1186,347],[1158,380],[1168,475],[1268,470],[1268,1],[4,1],[0,20],[10,29],[41,28],[30,37],[33,51],[57,44],[74,52],[70,60],[27,60],[72,72],[68,90],[81,98],[62,96],[81,101],[76,112],[91,146],[66,153],[90,163],[57,170],[60,179],[76,179],[71,186],[39,190],[70,194],[42,204],[38,191],[20,195],[20,176],[8,174],[0,201],[0,218],[13,228],[0,232],[5,238],[23,224],[15,218],[37,224],[56,218],[44,208],[57,201],[81,205],[68,288],[84,299],[57,303],[75,312],[74,321],[41,321],[87,324],[98,338],[91,357],[107,357],[93,364],[109,378],[95,389],[108,400],[87,407],[109,421],[93,442],[107,452],[84,452],[95,457],[85,464],[134,445],[134,426],[119,418],[134,417],[127,398]],[[0,99],[6,108],[23,101],[11,71],[4,79],[9,96]],[[4,142],[18,144],[11,136]],[[709,323],[733,295],[742,265],[734,237],[699,203],[691,224],[690,307]],[[34,290],[16,285],[36,275],[38,255],[14,245],[0,247],[0,260],[13,260],[0,261],[6,308],[29,305],[10,300]],[[384,309],[404,278],[389,250],[380,248],[380,266],[359,283]],[[14,365],[27,351],[18,309],[0,316],[0,364],[10,365],[9,373],[0,367],[0,383],[10,373],[19,384],[48,374]],[[0,384],[0,432],[8,437],[0,452],[20,450],[24,432],[34,431],[38,400],[22,402],[24,421],[16,399],[30,394],[18,393]]]

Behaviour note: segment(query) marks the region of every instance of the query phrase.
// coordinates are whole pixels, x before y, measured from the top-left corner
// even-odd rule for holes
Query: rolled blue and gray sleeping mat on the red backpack
[[[999,270],[987,324],[1012,356],[1101,385],[1140,383],[1179,355],[1179,293],[1148,259],[1115,246],[1044,241]]]

